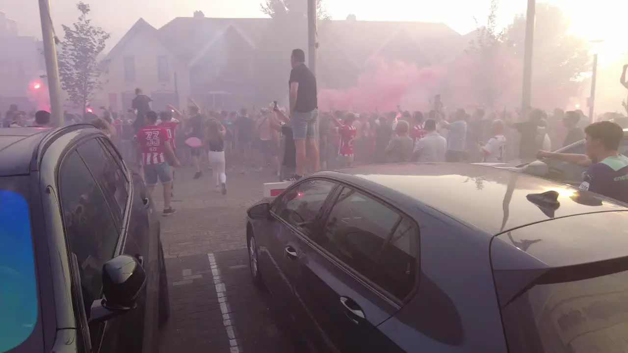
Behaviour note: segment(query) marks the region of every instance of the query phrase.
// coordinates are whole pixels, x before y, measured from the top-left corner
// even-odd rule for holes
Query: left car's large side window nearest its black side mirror
[[[85,308],[90,308],[100,298],[102,266],[114,256],[119,231],[105,197],[75,151],[63,160],[58,180],[65,237],[77,256]]]

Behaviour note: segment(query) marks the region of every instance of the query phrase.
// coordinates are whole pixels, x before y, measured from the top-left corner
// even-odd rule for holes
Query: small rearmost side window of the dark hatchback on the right
[[[416,280],[419,230],[403,219],[384,247],[373,274],[374,282],[395,298],[408,296]]]

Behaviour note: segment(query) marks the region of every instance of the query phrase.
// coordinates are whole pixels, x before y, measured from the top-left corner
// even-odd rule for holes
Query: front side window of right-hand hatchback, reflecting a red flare
[[[295,185],[275,202],[273,212],[305,234],[311,234],[318,211],[335,186],[325,180],[308,180]]]

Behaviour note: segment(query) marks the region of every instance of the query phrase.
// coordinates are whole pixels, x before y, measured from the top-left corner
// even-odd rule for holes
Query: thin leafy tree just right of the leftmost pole
[[[81,13],[78,21],[72,28],[63,25],[65,36],[58,53],[59,75],[68,99],[85,112],[87,104],[102,86],[99,55],[111,35],[92,25],[92,20],[87,18],[89,4],[80,1],[76,6]]]

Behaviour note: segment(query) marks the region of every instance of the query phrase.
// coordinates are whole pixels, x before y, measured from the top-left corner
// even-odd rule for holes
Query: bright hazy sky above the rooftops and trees
[[[303,0],[306,1],[306,0]],[[92,6],[94,23],[112,33],[109,47],[133,26],[139,17],[159,28],[177,16],[192,16],[202,10],[208,17],[262,17],[261,0],[86,0]],[[540,2],[540,1],[539,1]],[[628,1],[546,0],[563,8],[572,19],[572,30],[585,38],[603,39],[605,52],[628,52],[622,23],[628,14]],[[52,0],[55,28],[70,24],[78,16],[77,0]],[[490,0],[327,0],[328,13],[333,19],[355,14],[358,19],[384,21],[444,22],[460,33],[474,30],[474,16],[484,22]],[[502,0],[499,20],[506,24],[526,9],[526,0]],[[18,21],[21,35],[41,37],[38,1],[0,0],[0,11]],[[618,25],[619,24],[619,25]],[[62,33],[60,33],[62,36]],[[612,44],[612,45],[611,45]]]

